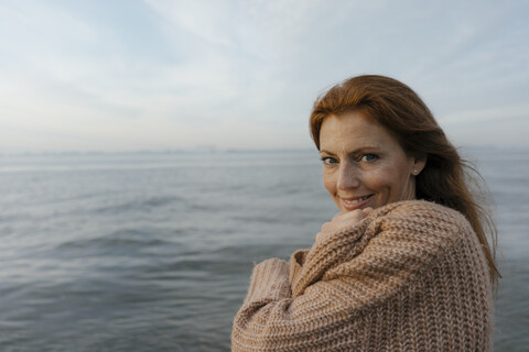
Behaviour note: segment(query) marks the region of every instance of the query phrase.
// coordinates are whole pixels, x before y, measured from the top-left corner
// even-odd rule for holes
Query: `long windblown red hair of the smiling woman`
[[[311,113],[311,134],[320,150],[320,130],[328,116],[361,111],[390,131],[402,150],[425,157],[415,177],[415,195],[463,213],[472,224],[487,260],[490,279],[497,282],[495,264],[497,230],[484,201],[483,178],[450,143],[421,98],[407,85],[384,76],[353,77],[316,99]],[[490,240],[490,243],[489,241]]]

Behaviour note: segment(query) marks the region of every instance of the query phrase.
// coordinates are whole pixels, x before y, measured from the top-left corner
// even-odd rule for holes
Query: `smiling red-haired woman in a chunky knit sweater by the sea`
[[[355,77],[316,100],[311,131],[341,212],[253,268],[233,351],[490,351],[494,223],[422,100]]]

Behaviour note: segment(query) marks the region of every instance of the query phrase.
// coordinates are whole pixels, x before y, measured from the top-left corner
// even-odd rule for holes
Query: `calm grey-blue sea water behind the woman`
[[[475,150],[504,275],[495,349],[529,345],[529,153]],[[2,351],[227,351],[252,263],[336,209],[315,152],[0,156]]]

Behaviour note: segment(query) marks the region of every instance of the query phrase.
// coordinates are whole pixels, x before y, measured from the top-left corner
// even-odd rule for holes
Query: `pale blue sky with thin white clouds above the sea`
[[[456,146],[529,146],[529,1],[0,0],[0,154],[311,148],[348,77]]]

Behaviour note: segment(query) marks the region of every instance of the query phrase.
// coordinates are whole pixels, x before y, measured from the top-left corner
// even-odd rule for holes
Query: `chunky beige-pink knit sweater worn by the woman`
[[[465,218],[411,200],[253,268],[233,351],[490,351],[492,287]]]

